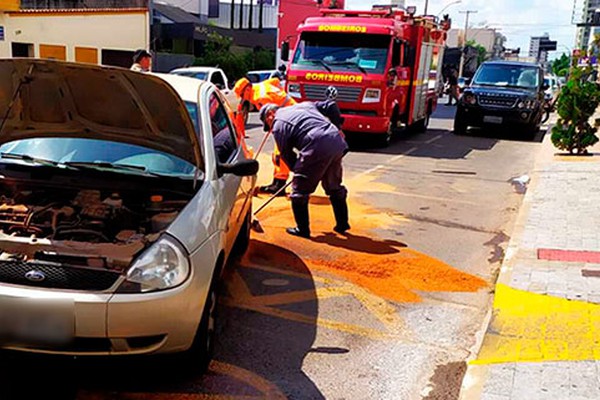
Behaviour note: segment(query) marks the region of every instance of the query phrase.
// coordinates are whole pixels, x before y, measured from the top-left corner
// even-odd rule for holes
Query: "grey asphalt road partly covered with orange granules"
[[[259,214],[265,232],[223,282],[205,376],[155,358],[11,356],[0,365],[0,398],[456,398],[522,200],[512,179],[531,171],[542,133],[454,136],[453,112],[440,105],[428,132],[386,149],[368,139],[353,147],[347,236],[332,233],[323,193],[311,201],[311,240],[284,233],[285,198]],[[256,148],[256,114],[251,122]]]

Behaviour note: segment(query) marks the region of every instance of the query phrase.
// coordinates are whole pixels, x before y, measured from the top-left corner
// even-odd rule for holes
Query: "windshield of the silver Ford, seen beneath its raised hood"
[[[194,178],[196,167],[174,155],[146,147],[106,140],[80,138],[35,138],[0,146],[2,162],[15,162],[20,156],[59,164],[83,163],[133,166],[141,172]],[[11,157],[16,156],[16,157]],[[133,170],[130,169],[130,171]],[[126,170],[123,170],[126,172]]]

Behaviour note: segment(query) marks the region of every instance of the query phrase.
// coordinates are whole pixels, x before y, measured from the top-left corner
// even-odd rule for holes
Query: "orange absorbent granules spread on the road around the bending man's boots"
[[[371,190],[374,187],[364,183],[361,186]],[[386,189],[379,187],[382,188]],[[258,216],[265,232],[253,234],[255,241],[246,260],[277,268],[330,273],[397,302],[418,302],[419,291],[476,292],[487,286],[485,280],[410,249],[404,243],[376,236],[376,229],[406,223],[402,217],[373,209],[353,198],[348,205],[352,228],[346,235],[338,235],[332,231],[335,220],[329,200],[313,196],[309,210],[312,237],[308,240],[285,233],[286,227],[294,225],[291,207],[287,199],[276,199]],[[275,248],[281,251],[274,251]]]

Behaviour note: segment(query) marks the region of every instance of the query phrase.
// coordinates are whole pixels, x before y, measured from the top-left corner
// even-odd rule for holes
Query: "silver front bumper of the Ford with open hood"
[[[0,310],[40,308],[60,302],[72,310],[73,337],[66,344],[4,343],[9,350],[64,355],[171,353],[192,344],[205,296],[188,279],[183,285],[155,293],[107,294],[0,285]]]

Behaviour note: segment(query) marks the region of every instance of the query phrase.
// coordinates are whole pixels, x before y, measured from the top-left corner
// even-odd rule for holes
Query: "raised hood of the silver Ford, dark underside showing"
[[[158,77],[122,68],[1,59],[2,122],[0,144],[38,137],[110,140],[202,166],[194,127],[174,89]]]

